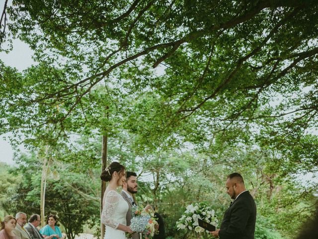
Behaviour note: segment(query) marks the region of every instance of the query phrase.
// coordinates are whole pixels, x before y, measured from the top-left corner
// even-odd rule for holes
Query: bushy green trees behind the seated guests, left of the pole
[[[7,192],[8,198],[3,203],[7,212],[40,214],[41,167],[36,163],[39,161],[34,154],[18,158],[19,168],[14,169],[14,174],[23,178],[14,190]],[[51,172],[55,167],[51,165]],[[57,215],[70,239],[81,233],[85,224],[91,227],[99,224],[99,188],[95,179],[72,172],[66,164],[59,168],[58,178],[52,176],[46,183],[46,216]]]

